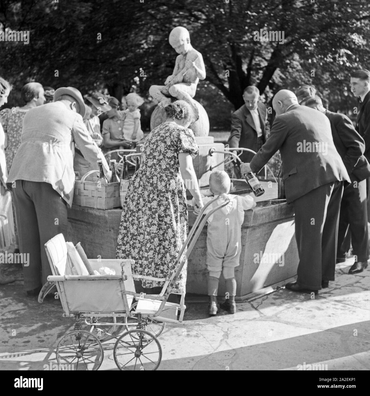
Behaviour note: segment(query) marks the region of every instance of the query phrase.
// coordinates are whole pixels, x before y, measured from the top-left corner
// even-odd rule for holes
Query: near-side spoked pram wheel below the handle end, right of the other
[[[133,329],[116,341],[113,356],[120,370],[156,370],[161,363],[162,348],[149,331]]]

